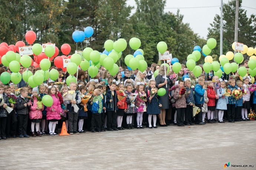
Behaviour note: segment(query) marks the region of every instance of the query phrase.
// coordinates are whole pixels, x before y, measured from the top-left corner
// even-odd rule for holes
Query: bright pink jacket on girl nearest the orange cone
[[[52,120],[52,119],[61,119],[60,117],[60,113],[62,113],[61,107],[60,107],[60,101],[58,98],[55,97],[55,95],[52,95],[52,99],[53,99],[53,104],[50,107],[46,108],[46,119],[47,120]],[[54,109],[54,111],[52,112],[52,109]]]

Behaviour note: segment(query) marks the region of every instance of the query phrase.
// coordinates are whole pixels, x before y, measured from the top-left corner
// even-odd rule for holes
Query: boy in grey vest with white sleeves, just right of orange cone
[[[70,90],[76,91],[76,84],[74,82],[70,82],[69,84]],[[79,92],[76,92],[75,100],[73,101],[64,101],[67,105],[68,109],[68,127],[69,127],[69,134],[73,135],[79,134],[78,131],[76,131],[77,128],[77,119],[78,119],[78,110],[75,112],[73,105],[77,105],[79,108],[79,103],[81,103],[81,96]]]

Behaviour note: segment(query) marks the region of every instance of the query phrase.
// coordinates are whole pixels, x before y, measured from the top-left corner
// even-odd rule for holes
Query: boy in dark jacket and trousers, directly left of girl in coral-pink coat
[[[19,137],[29,137],[27,135],[27,121],[29,119],[29,109],[31,107],[27,98],[29,91],[26,88],[20,89],[20,96],[17,98],[16,112],[19,127]]]

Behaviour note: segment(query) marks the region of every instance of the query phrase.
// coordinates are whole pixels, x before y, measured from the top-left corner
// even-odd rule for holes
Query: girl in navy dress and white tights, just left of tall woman
[[[153,116],[153,123],[154,123],[154,128],[157,128],[157,115],[161,113],[160,111],[160,107],[162,107],[161,105],[161,99],[160,97],[158,97],[157,95],[157,91],[153,91],[151,92],[151,89],[155,89],[155,80],[150,80],[149,82],[149,86],[150,88],[148,88],[146,95],[147,95],[147,114],[148,114],[148,128],[152,129],[152,125],[151,125],[151,119]],[[152,95],[150,95],[150,93]]]

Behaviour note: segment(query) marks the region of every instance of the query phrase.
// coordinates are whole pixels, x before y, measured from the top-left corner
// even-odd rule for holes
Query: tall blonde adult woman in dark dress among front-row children
[[[167,126],[165,123],[165,109],[169,109],[169,83],[170,80],[168,78],[166,78],[165,76],[165,70],[167,70],[167,67],[165,67],[164,65],[162,65],[160,67],[159,73],[155,78],[155,86],[160,89],[160,88],[164,88],[165,89],[165,95],[161,96],[161,103],[162,103],[162,107],[161,109],[161,113],[158,115],[159,117],[159,121],[160,121],[160,126]],[[167,85],[166,85],[167,84]]]

